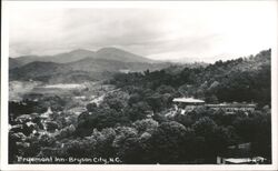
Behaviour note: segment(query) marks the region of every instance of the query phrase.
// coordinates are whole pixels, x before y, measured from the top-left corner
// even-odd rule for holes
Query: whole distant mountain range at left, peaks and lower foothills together
[[[102,80],[117,72],[159,70],[169,62],[157,62],[116,48],[83,49],[56,56],[23,56],[9,59],[10,80],[76,82]]]

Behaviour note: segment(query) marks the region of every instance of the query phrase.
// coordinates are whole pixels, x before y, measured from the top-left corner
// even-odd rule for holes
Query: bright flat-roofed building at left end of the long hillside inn
[[[172,100],[176,110],[181,110],[181,114],[192,111],[198,105],[203,105],[205,101],[193,98],[175,98]]]

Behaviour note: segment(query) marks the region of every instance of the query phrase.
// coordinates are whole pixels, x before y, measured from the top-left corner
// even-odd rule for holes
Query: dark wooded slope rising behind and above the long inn
[[[271,50],[236,60],[217,61],[195,68],[170,67],[160,71],[117,74],[111,83],[132,92],[133,89],[173,91],[217,102],[257,102],[270,104]]]

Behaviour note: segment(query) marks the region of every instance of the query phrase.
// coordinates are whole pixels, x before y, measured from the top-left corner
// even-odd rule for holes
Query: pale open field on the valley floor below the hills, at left
[[[79,111],[88,103],[98,104],[108,92],[113,90],[113,86],[101,82],[46,84],[34,81],[11,81],[9,82],[9,101],[23,99],[44,101],[47,97],[60,97],[67,101],[64,111]]]

